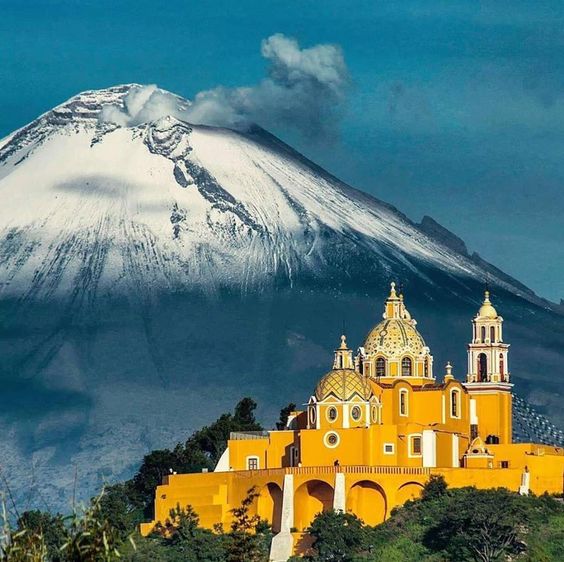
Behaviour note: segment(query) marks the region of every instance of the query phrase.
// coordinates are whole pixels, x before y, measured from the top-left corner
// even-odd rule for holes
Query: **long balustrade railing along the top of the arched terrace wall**
[[[237,475],[242,478],[253,476],[283,476],[285,474],[295,475],[324,475],[342,472],[345,474],[382,474],[382,475],[409,475],[426,476],[431,474],[431,469],[421,466],[288,466],[284,468],[265,468],[259,470],[238,470]]]

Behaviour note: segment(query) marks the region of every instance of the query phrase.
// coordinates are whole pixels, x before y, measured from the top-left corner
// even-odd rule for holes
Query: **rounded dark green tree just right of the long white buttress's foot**
[[[367,550],[363,522],[352,513],[325,511],[318,513],[308,529],[313,537],[312,560],[348,562]]]

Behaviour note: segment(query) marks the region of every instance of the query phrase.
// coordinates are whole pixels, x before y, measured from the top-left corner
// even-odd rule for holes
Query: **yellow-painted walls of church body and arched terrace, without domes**
[[[479,434],[499,435],[499,445],[484,445],[484,455],[466,455],[470,441],[470,398],[460,382],[447,378],[444,384],[415,384],[397,380],[393,384],[371,382],[381,404],[381,419],[372,423],[366,417],[368,402],[353,399],[338,403],[330,397],[315,404],[319,429],[307,429],[307,411],[299,413],[294,429],[272,431],[256,438],[239,436],[228,442],[229,467],[226,472],[171,475],[155,494],[155,520],[142,526],[147,534],[156,521],[164,521],[176,505],[192,505],[204,527],[229,525],[230,510],[240,505],[248,490],[256,488],[259,497],[253,509],[279,529],[284,476],[293,475],[294,526],[302,532],[316,513],[333,506],[336,473],[345,474],[345,507],[367,523],[376,524],[391,509],[417,497],[431,474],[442,474],[451,487],[507,487],[517,491],[524,472],[529,473],[531,490],[563,491],[564,452],[562,449],[531,444],[510,444],[511,396],[500,391],[475,393]],[[458,416],[451,411],[451,391],[459,392]],[[406,415],[400,414],[400,393],[406,392]],[[360,404],[363,417],[350,416]],[[337,405],[336,420],[326,412]],[[347,412],[349,416],[347,416]],[[346,427],[349,425],[350,427]],[[423,467],[423,455],[410,451],[413,435],[434,432],[436,466]],[[333,445],[329,434],[336,436]],[[458,442],[458,455],[453,443]],[[385,446],[389,445],[389,454]],[[291,450],[299,454],[292,457]],[[248,458],[259,459],[259,470],[247,470]],[[335,465],[338,461],[338,465]],[[299,463],[299,464],[298,464]],[[293,464],[298,466],[292,466]],[[466,468],[460,468],[461,465]],[[453,465],[456,465],[453,467]],[[298,533],[296,545],[307,539]],[[297,551],[300,546],[295,546]]]

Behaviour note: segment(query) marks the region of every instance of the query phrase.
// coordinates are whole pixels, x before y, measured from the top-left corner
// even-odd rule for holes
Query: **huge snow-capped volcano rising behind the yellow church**
[[[72,465],[91,490],[242,395],[268,418],[305,401],[391,279],[460,378],[488,280],[517,390],[562,415],[556,306],[259,127],[107,118],[139,88],[84,92],[0,141],[0,458],[18,488],[61,505]]]

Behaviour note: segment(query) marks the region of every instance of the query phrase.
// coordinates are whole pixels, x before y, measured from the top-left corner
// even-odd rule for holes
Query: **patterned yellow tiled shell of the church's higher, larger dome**
[[[424,353],[424,348],[425,341],[413,321],[400,318],[383,320],[370,331],[364,342],[364,351],[370,355],[382,353],[397,357],[410,353],[417,356]]]

